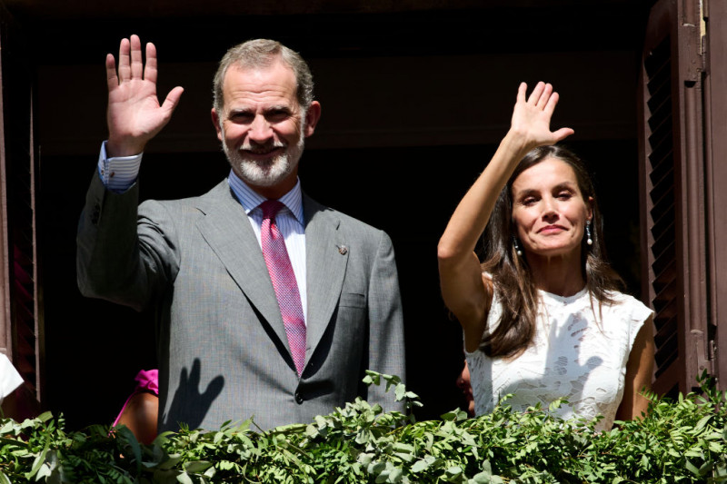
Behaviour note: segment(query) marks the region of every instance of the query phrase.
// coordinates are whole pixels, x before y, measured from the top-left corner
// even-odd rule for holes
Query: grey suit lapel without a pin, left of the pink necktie
[[[227,180],[200,198],[198,208],[206,215],[197,223],[204,240],[287,348],[288,338],[263,252]]]

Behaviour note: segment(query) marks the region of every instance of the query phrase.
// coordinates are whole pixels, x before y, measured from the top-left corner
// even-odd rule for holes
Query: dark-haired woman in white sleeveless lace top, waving
[[[462,324],[475,413],[556,399],[563,418],[632,420],[652,380],[652,311],[618,291],[583,163],[554,143],[558,94],[520,85],[510,130],[439,242],[444,302]],[[485,230],[486,229],[486,230]],[[485,259],[475,245],[485,232]]]

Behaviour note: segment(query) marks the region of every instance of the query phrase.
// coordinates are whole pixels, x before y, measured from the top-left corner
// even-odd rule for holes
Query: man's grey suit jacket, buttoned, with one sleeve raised
[[[404,376],[403,322],[389,237],[304,195],[308,291],[298,377],[260,246],[227,181],[203,196],[144,202],[95,175],[77,236],[78,286],[156,311],[159,430],[215,430],[254,417],[307,423],[361,396],[364,370]],[[345,245],[346,251],[339,247]],[[343,252],[343,253],[342,253]]]

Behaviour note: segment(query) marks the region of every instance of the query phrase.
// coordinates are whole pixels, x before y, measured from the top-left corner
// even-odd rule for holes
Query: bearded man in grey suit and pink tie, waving
[[[391,241],[300,190],[304,138],[321,114],[300,55],[266,40],[228,51],[212,109],[228,179],[196,198],[138,208],[141,153],[183,89],[159,104],[154,45],[144,65],[135,35],[121,43],[118,72],[107,55],[106,73],[109,138],[79,222],[78,285],[86,296],[154,307],[159,430],[214,430],[251,416],[269,429],[356,396],[402,410],[392,392],[361,382],[367,369],[404,373]],[[271,204],[279,212],[264,212]]]

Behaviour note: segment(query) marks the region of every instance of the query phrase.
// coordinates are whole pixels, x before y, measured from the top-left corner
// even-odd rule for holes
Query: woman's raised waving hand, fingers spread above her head
[[[543,82],[535,85],[533,93],[527,97],[528,86],[521,83],[517,90],[517,102],[513,111],[510,131],[523,136],[527,150],[545,144],[554,144],[573,134],[571,128],[551,131],[551,117],[558,104],[558,93],[553,92],[553,85]]]

